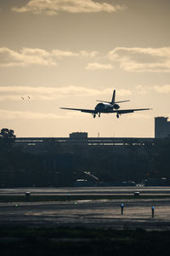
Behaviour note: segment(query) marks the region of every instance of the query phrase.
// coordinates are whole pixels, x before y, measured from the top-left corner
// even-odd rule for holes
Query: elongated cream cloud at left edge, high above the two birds
[[[93,58],[97,51],[81,50],[71,52],[69,50],[22,48],[20,51],[14,51],[5,47],[0,48],[0,67],[27,67],[31,65],[57,66],[58,61],[65,57]]]

